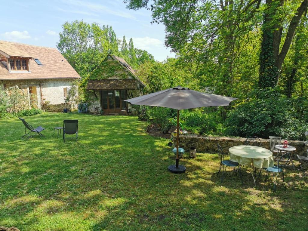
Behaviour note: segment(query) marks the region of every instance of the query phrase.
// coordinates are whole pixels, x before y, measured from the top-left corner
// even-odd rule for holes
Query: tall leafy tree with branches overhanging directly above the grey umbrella
[[[128,8],[147,7],[149,1],[126,1]],[[219,82],[217,93],[232,95],[235,88],[233,69],[238,53],[249,41],[252,18],[261,0],[186,1],[162,0],[150,5],[153,22],[165,25],[165,44],[174,52],[186,53],[187,62],[211,63]],[[218,3],[218,4],[217,4]],[[245,38],[246,37],[246,38]],[[202,69],[201,69],[202,70]]]

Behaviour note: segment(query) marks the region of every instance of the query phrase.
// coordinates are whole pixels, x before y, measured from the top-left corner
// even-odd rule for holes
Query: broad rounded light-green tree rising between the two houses
[[[57,47],[82,78],[89,75],[108,53],[118,50],[111,27],[76,20],[65,22],[62,29]]]

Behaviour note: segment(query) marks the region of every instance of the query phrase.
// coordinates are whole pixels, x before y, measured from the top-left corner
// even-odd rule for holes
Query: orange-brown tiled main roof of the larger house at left
[[[38,47],[0,40],[0,51],[5,53],[5,56],[33,58],[29,59],[29,73],[25,73],[25,71],[10,72],[0,62],[0,80],[80,78],[78,73],[56,48]],[[43,65],[38,65],[34,59],[39,59]]]

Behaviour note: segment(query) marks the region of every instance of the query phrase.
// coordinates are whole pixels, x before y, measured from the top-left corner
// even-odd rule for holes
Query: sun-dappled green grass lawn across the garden
[[[43,113],[25,117],[45,138],[22,140],[22,122],[0,120],[0,226],[26,230],[307,230],[307,173],[286,171],[287,189],[272,179],[244,184],[216,176],[216,154],[180,160],[168,140],[144,133],[133,116]],[[63,143],[53,127],[79,120],[79,140]],[[228,172],[227,172],[228,173]],[[264,179],[264,175],[262,180]],[[279,182],[279,184],[282,182]]]

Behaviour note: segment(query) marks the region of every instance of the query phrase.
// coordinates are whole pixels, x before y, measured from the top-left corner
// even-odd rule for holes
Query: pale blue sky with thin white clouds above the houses
[[[175,57],[164,46],[164,26],[151,24],[151,12],[128,10],[123,0],[11,0],[1,2],[0,40],[56,47],[61,25],[84,20],[110,25],[118,38],[133,38],[135,47],[144,49],[163,61]]]

